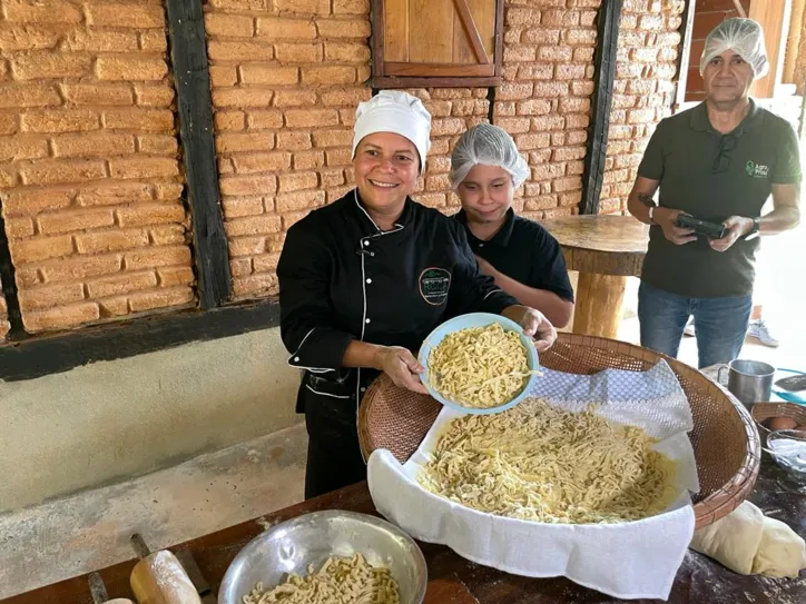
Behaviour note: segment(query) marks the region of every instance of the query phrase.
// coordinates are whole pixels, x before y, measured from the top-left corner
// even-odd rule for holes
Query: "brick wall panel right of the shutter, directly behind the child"
[[[515,209],[540,219],[578,212],[593,93],[600,0],[509,0],[493,123],[532,168]],[[570,7],[570,8],[568,8]]]

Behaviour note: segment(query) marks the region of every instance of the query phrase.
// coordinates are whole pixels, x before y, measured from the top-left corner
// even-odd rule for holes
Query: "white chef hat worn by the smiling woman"
[[[353,158],[358,142],[375,132],[394,132],[412,141],[420,155],[420,172],[431,148],[431,113],[423,102],[401,90],[381,90],[355,110]]]

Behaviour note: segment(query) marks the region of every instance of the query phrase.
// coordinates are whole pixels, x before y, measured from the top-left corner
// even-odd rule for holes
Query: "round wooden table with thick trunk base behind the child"
[[[641,274],[649,226],[631,216],[567,216],[540,222],[579,271],[573,333],[616,338],[627,277]]]

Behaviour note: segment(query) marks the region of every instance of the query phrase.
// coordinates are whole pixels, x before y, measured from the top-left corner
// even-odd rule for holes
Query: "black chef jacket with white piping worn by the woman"
[[[342,368],[352,340],[415,351],[449,318],[518,304],[480,273],[462,225],[406,199],[382,231],[356,190],[288,229],[277,278],[281,335],[288,363],[307,370],[303,387],[352,400],[377,376]]]

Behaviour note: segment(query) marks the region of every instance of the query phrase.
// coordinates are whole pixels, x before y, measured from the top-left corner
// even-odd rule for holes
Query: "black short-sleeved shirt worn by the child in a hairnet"
[[[464,225],[473,254],[484,258],[495,270],[525,286],[545,289],[573,301],[573,288],[560,244],[543,227],[517,216],[510,208],[495,236],[483,241],[468,228],[464,210],[454,218]]]

